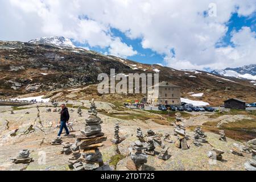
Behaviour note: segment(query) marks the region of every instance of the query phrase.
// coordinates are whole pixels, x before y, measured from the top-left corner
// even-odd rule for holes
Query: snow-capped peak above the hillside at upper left
[[[29,43],[33,44],[52,44],[57,47],[76,47],[71,39],[64,38],[63,36],[48,36],[43,38],[38,38],[35,40],[30,40]]]

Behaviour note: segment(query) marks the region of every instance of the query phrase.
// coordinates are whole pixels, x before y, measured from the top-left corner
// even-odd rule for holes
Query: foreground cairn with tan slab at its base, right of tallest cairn
[[[134,143],[131,144],[129,148],[131,154],[131,160],[127,161],[127,168],[131,171],[143,171],[144,164],[147,163],[147,154],[144,154],[142,150],[145,147],[143,146],[140,140],[136,140]]]

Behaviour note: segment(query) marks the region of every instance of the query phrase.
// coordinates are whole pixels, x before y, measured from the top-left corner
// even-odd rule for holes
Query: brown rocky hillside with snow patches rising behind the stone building
[[[160,65],[141,64],[75,47],[52,44],[0,42],[0,97],[84,88],[97,84],[99,73],[156,73],[160,81],[181,86],[182,96],[222,104],[229,97],[255,102],[255,85],[248,80],[202,71],[177,71]],[[189,93],[204,93],[193,97]],[[42,95],[42,93],[40,93]]]

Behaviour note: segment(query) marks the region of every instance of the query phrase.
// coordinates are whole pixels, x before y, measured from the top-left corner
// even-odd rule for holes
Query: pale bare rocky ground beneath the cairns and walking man
[[[59,102],[61,104],[61,102]],[[75,131],[72,134],[79,134],[84,129],[85,118],[88,118],[87,108],[89,101],[68,101],[71,122]],[[39,106],[38,109],[36,106]],[[58,129],[54,129],[59,121],[59,113],[47,113],[46,109],[55,109],[52,104],[37,104],[30,106],[18,107],[11,114],[11,107],[1,107],[0,109],[0,170],[69,170],[69,155],[61,154],[61,146],[52,146],[51,140],[56,138]],[[48,107],[46,107],[48,106]],[[77,107],[82,107],[82,117],[77,114]],[[141,127],[143,134],[148,129],[154,130],[158,134],[169,133],[172,140],[176,140],[174,136],[174,126],[170,125],[165,117],[159,114],[148,113],[146,111],[117,111],[117,107],[106,102],[96,102],[98,114],[102,119],[102,131],[108,140],[104,142],[104,146],[100,148],[104,162],[116,170],[127,170],[126,162],[129,156],[129,146],[131,142],[137,140],[135,137],[137,127]],[[29,113],[29,114],[26,114]],[[38,115],[39,114],[39,115]],[[241,117],[241,116],[240,116]],[[197,115],[187,118],[184,125],[195,126],[202,125],[203,121],[208,121],[205,115]],[[230,117],[226,117],[229,118]],[[218,118],[224,121],[226,118]],[[114,125],[118,122],[120,126],[119,136],[123,141],[118,145],[114,145],[111,140],[114,138]],[[18,129],[13,134],[13,131]],[[230,152],[233,143],[242,144],[236,140],[228,138],[227,142],[219,140],[219,135],[214,133],[206,133],[209,143],[203,143],[202,146],[196,147],[192,143],[193,132],[187,130],[189,137],[188,144],[191,146],[189,150],[181,150],[175,147],[174,143],[167,143],[169,147],[168,153],[171,158],[164,161],[158,159],[157,156],[148,156],[147,170],[244,170],[243,164],[247,159],[251,158],[250,154],[243,153],[244,156],[237,156]],[[64,142],[75,141],[75,138],[63,137]],[[207,156],[208,151],[216,147],[224,151],[223,160],[217,161],[216,164],[210,164]],[[19,150],[31,150],[31,156],[34,162],[30,164],[14,164],[10,158],[14,158]],[[156,147],[156,151],[160,152],[160,147]],[[46,163],[40,163],[42,155],[46,154]]]

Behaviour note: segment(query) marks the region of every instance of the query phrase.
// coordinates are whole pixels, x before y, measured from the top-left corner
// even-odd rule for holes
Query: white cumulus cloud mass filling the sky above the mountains
[[[141,40],[143,48],[164,55],[176,69],[236,67],[254,63],[255,32],[232,32],[234,46],[216,48],[233,13],[251,16],[256,0],[0,0],[0,39],[27,41],[40,36],[67,36],[116,56],[139,54],[111,32]]]

